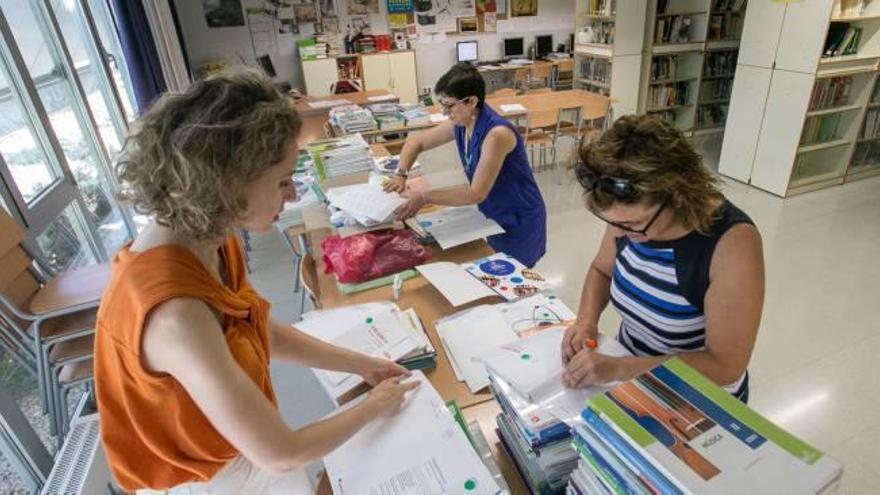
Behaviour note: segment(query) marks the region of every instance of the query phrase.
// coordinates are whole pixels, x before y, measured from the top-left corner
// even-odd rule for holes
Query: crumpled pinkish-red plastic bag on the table
[[[325,273],[336,273],[344,284],[391,275],[431,259],[431,253],[409,230],[381,230],[321,243]]]

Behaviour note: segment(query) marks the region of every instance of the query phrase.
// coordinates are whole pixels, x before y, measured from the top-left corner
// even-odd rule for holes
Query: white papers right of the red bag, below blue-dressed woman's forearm
[[[504,233],[498,222],[486,218],[476,206],[443,208],[415,218],[443,249]]]

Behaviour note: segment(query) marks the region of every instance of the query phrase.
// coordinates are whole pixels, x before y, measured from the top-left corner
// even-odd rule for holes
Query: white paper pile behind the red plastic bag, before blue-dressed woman
[[[394,218],[394,210],[406,202],[397,193],[387,193],[376,184],[355,184],[327,190],[330,206],[338,208],[365,227]]]

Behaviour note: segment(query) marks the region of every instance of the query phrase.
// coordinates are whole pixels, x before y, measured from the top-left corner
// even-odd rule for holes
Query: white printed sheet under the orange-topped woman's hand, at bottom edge
[[[452,413],[421,372],[403,409],[365,426],[324,458],[333,493],[344,495],[497,494]]]

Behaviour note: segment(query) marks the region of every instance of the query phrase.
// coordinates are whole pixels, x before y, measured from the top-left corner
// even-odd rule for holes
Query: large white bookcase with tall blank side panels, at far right
[[[719,172],[783,197],[876,175],[880,2],[752,2],[742,30]]]

